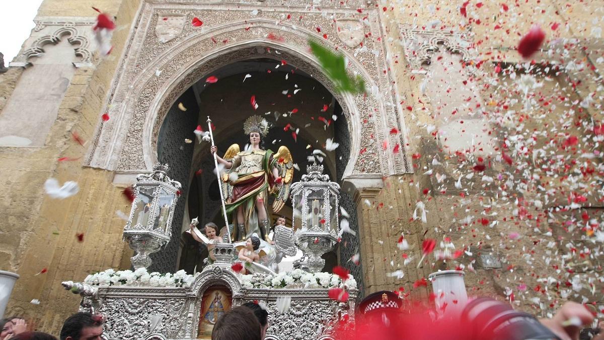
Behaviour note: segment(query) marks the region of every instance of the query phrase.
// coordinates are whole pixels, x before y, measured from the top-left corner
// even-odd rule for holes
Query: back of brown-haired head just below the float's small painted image
[[[261,340],[260,322],[248,307],[224,313],[212,330],[212,340]]]

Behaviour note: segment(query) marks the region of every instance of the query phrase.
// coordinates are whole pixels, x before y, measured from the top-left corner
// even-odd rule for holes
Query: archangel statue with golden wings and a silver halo
[[[225,167],[222,174],[223,196],[226,203],[226,214],[231,214],[233,223],[233,241],[247,240],[256,233],[269,240],[268,195],[275,196],[272,212],[278,212],[289,198],[290,186],[294,178],[292,155],[286,146],[281,146],[277,153],[260,147],[263,137],[268,134],[270,126],[266,119],[251,116],[243,124],[243,132],[249,136],[249,146],[240,151],[239,145],[233,144],[225,155],[216,155],[217,161]],[[214,154],[216,146],[210,151]]]

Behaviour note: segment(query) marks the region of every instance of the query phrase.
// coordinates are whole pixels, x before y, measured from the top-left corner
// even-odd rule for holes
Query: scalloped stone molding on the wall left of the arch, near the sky
[[[19,53],[10,66],[28,67],[30,57],[39,57],[44,53],[44,45],[58,44],[65,36],[74,47],[74,54],[81,59],[74,62],[75,67],[92,67],[94,50],[92,50],[92,25],[95,18],[86,17],[37,17],[30,38],[25,42],[25,49]]]

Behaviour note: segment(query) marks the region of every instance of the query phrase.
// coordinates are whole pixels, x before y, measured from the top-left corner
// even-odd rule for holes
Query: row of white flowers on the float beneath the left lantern
[[[103,272],[86,276],[85,284],[91,286],[134,286],[134,287],[190,287],[196,275],[189,275],[184,270],[176,273],[147,272],[145,268],[132,270],[107,269]]]

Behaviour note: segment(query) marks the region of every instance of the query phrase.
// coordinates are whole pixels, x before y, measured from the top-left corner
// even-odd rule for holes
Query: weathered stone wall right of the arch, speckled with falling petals
[[[601,226],[604,218],[599,192],[602,163],[599,157],[581,156],[597,148],[597,143],[592,133],[577,148],[561,147],[569,136],[581,139],[584,134],[590,135],[591,124],[602,120],[602,21],[587,14],[601,10],[596,2],[580,8],[557,1],[507,5],[504,9],[498,2],[482,2],[480,6],[469,2],[464,18],[460,15],[461,4],[380,4],[384,6],[387,32],[384,39],[396,65],[396,85],[403,107],[408,107],[403,117],[416,172],[398,180],[385,180],[384,189],[370,198],[371,206],[359,202],[367,257],[364,270],[369,277],[365,283],[373,276],[375,285],[367,286],[370,291],[402,285],[408,292],[422,275],[463,265],[470,294],[515,299],[520,308],[536,315],[546,316],[567,299],[596,304],[602,301],[602,243],[596,241],[591,229],[586,229],[589,224]],[[522,60],[515,47],[534,24],[540,24],[547,36],[544,51],[536,53],[532,57],[536,62],[531,63]],[[554,29],[555,25],[559,27]],[[402,33],[405,30],[407,33]],[[452,33],[465,34],[471,45],[465,51],[460,51],[459,45],[452,48],[451,41],[460,41],[451,38]],[[419,45],[416,49],[405,48],[413,36],[429,34],[451,39],[432,44],[428,54],[422,54]],[[465,60],[463,68],[450,60],[446,55],[450,53]],[[544,61],[545,65],[535,65]],[[498,64],[503,72],[495,71]],[[555,64],[559,65],[556,71]],[[524,70],[512,72],[517,73],[516,80],[510,80],[509,71],[505,71],[510,65],[525,65]],[[525,72],[542,86],[528,91],[526,100],[532,107],[523,112],[526,96],[518,93],[518,84]],[[578,105],[586,97],[593,101]],[[460,99],[472,105],[458,105]],[[455,108],[460,109],[457,116],[452,114]],[[457,133],[443,137],[451,123],[457,124],[453,130]],[[506,137],[511,142],[509,149]],[[544,149],[547,155],[530,155],[537,149]],[[502,152],[515,156],[511,166],[502,159]],[[485,159],[484,172],[472,169],[478,157]],[[472,179],[466,178],[472,173]],[[457,188],[455,182],[460,177],[461,186]],[[397,181],[400,186],[391,196],[393,189],[387,183],[398,186]],[[580,209],[569,209],[576,195],[586,201],[579,204]],[[427,223],[409,221],[417,200],[426,205]],[[399,210],[406,209],[400,216],[387,208],[377,212],[379,204],[396,207],[397,201],[402,203]],[[431,258],[432,268],[420,267],[417,271],[416,261],[403,267],[393,239],[400,232],[410,239],[407,255],[421,256],[425,238],[440,243],[447,237],[455,249],[466,252],[446,264],[434,263]],[[388,246],[376,244],[389,237]],[[493,255],[501,266],[486,269],[488,265],[480,255]],[[373,272],[368,262],[373,264]],[[468,270],[470,264],[473,270]],[[385,277],[384,273],[397,269],[405,273],[402,280]],[[583,287],[576,284],[577,278]],[[602,306],[598,306],[591,309],[602,313]]]

